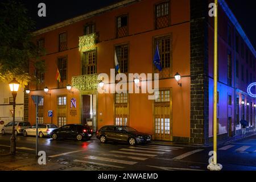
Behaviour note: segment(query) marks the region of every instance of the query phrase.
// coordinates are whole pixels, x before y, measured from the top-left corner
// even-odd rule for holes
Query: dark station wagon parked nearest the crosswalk
[[[129,126],[103,126],[96,131],[96,137],[105,143],[108,140],[128,142],[131,146],[137,143],[151,142],[151,135],[138,132]]]

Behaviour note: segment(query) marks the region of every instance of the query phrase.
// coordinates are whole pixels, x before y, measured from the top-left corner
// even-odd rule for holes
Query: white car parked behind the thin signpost
[[[56,130],[58,127],[53,124],[38,124],[38,136],[42,137],[49,137],[53,130]],[[28,129],[24,129],[23,136],[27,137],[36,136],[36,125],[29,127]]]

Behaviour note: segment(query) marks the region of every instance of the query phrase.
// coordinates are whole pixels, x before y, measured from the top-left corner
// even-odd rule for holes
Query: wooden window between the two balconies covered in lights
[[[82,60],[82,75],[91,75],[96,73],[96,50],[84,52]]]

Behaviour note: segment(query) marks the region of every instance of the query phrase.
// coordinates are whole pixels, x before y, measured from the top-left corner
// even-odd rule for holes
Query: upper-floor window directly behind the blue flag
[[[160,64],[162,66],[162,71],[159,72],[159,70],[154,66],[155,73],[159,73],[159,78],[168,78],[171,75],[171,37],[164,36],[162,38],[156,38],[154,45],[155,49],[156,45],[158,45],[159,49]]]

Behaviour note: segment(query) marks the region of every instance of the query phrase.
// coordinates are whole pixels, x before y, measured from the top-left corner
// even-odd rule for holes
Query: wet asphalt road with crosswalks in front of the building
[[[10,135],[0,135],[0,148],[8,150]],[[35,137],[16,137],[18,151],[35,154]],[[207,170],[212,147],[181,147],[146,144],[129,146],[126,143],[52,140],[39,138],[39,150],[47,159],[59,163],[85,164],[88,170]],[[218,163],[223,170],[256,171],[256,135],[237,142],[218,146]],[[81,165],[80,165],[81,166]],[[95,168],[96,167],[96,168]],[[79,169],[79,168],[76,168]]]

